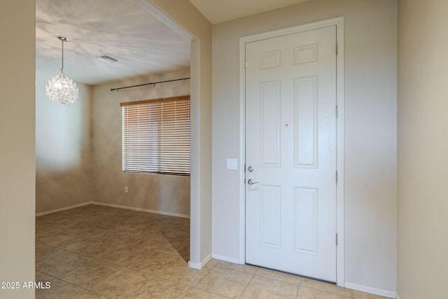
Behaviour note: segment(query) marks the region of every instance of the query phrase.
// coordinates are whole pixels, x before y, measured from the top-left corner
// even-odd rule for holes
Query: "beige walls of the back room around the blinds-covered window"
[[[190,215],[190,178],[121,171],[120,102],[190,94],[190,81],[111,92],[111,88],[186,78],[190,70],[89,86],[78,83],[76,104],[45,95],[54,74],[36,72],[36,213],[102,202]],[[129,193],[124,192],[128,186]]]

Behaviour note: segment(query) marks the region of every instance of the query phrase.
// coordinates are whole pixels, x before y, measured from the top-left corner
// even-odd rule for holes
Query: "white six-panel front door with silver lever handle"
[[[246,43],[246,263],[336,281],[336,27]]]

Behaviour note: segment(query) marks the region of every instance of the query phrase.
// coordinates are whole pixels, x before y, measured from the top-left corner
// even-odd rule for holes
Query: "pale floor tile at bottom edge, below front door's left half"
[[[295,299],[298,288],[297,284],[254,276],[246,286],[241,298]]]

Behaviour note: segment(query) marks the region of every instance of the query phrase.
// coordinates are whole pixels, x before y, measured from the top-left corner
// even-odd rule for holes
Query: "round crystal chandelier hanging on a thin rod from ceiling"
[[[76,83],[64,74],[64,42],[69,40],[62,36],[59,36],[58,39],[62,41],[61,74],[51,78],[45,85],[45,90],[52,102],[61,105],[73,104],[78,98],[78,88],[76,88]]]

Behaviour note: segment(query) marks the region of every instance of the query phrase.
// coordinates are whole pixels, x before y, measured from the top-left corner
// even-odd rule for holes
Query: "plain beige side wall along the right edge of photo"
[[[447,298],[448,1],[398,1],[398,294]]]

